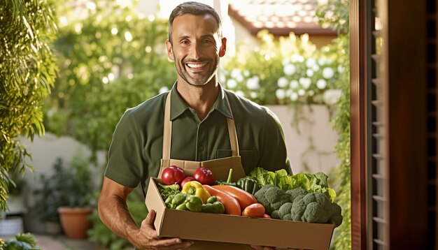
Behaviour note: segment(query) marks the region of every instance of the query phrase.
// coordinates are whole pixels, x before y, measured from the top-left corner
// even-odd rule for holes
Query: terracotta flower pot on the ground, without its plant
[[[58,207],[61,226],[67,237],[70,239],[87,238],[87,230],[91,228],[91,222],[87,216],[91,212],[91,208]]]

